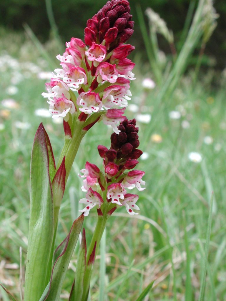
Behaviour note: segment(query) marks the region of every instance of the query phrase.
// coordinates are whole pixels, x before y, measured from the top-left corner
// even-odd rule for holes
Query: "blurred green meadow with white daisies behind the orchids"
[[[198,5],[207,2],[211,3],[193,1],[194,10],[190,6],[188,20],[189,1],[143,1],[141,6],[131,1],[131,13],[137,22],[129,42],[137,47],[131,56],[136,63],[137,79],[131,82],[133,97],[126,115],[138,119],[139,148],[144,151],[139,169],[146,172],[147,188],[140,193],[138,216],[130,218],[123,209],[118,209],[109,220],[106,245],[102,243],[101,247],[102,259],[96,260],[91,300],[133,301],[153,280],[146,301],[226,299],[226,71],[225,31],[222,30],[226,7],[223,1],[215,5],[220,17],[206,43],[205,54],[200,56],[204,36],[200,24],[206,16],[202,10],[188,40],[191,51],[187,53],[185,47],[180,52],[186,45],[185,20],[190,27]],[[61,41],[66,42],[71,36],[82,38],[86,20],[104,3],[55,1],[53,12]],[[41,96],[49,72],[58,66],[55,55],[64,48],[63,42],[56,39],[56,28],[52,26],[50,30],[45,5],[44,1],[35,0],[0,3],[0,282],[17,297],[20,246],[23,269],[26,258],[34,134],[43,122],[56,160],[64,139],[62,123],[53,123]],[[148,23],[144,12],[147,6],[157,11],[173,29],[177,55],[171,54],[169,41],[153,29],[153,23]],[[23,23],[29,26],[24,29]],[[155,81],[154,89],[143,87],[145,78]],[[77,202],[84,197],[77,173],[86,160],[101,166],[97,145],[109,147],[110,135],[111,129],[98,123],[82,141],[65,190],[57,244],[78,216]],[[191,152],[199,156],[191,158]],[[209,212],[213,214],[210,237],[207,235]],[[95,221],[95,213],[85,221],[88,241]],[[204,250],[208,243],[206,260]],[[99,272],[100,262],[106,264],[106,272],[103,268]],[[76,252],[62,300],[68,299],[75,268]],[[102,283],[105,288],[101,286],[99,290]],[[205,295],[201,297],[204,289]],[[9,300],[2,289],[0,292],[0,299]]]

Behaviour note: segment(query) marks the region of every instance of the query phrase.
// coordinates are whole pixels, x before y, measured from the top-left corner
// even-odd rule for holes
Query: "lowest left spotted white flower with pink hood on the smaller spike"
[[[103,203],[103,199],[102,199],[101,195],[98,192],[93,191],[92,188],[89,188],[89,190],[86,194],[86,197],[83,198],[83,199],[80,199],[79,203],[86,204],[86,207],[82,210],[79,210],[79,211],[83,212],[84,216],[88,216],[89,211],[93,207],[97,206],[97,208],[100,208],[100,206]]]

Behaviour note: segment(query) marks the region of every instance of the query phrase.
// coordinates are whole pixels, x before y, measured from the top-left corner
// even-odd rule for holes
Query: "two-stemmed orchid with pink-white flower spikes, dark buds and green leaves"
[[[67,267],[82,229],[83,220],[94,207],[97,223],[86,250],[85,230],[78,254],[75,281],[70,301],[85,301],[97,248],[106,222],[119,207],[128,214],[138,214],[138,195],[128,193],[136,187],[142,191],[143,171],[134,169],[142,151],[139,146],[136,119],[124,116],[131,99],[130,80],[134,63],[127,58],[134,50],[124,44],[133,33],[129,2],[108,1],[87,21],[84,42],[71,38],[63,55],[58,55],[61,68],[55,69],[46,83],[49,112],[52,118],[64,118],[65,142],[59,161],[55,159],[49,137],[40,124],[31,156],[30,223],[25,274],[24,301],[59,300]],[[64,189],[86,132],[97,122],[111,125],[111,145],[99,145],[103,158],[101,171],[86,162],[81,170],[84,204],[65,240],[55,248],[58,215]],[[117,124],[119,126],[117,126]]]

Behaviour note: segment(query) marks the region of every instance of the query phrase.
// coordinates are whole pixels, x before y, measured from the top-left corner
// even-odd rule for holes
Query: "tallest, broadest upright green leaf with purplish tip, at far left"
[[[49,165],[50,162],[53,163],[53,157],[47,137],[41,123],[31,154],[30,222],[24,301],[39,300],[49,283],[52,269],[54,218]]]

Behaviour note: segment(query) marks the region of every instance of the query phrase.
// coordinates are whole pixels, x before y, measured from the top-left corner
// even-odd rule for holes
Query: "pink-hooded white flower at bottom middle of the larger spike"
[[[79,108],[79,110],[86,114],[98,112],[102,108],[102,102],[99,94],[90,91],[80,93],[77,98],[77,104],[82,106],[82,108]]]

